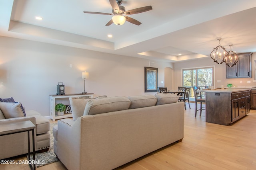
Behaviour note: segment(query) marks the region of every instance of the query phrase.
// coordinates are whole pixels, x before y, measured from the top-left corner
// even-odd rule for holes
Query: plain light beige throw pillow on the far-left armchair
[[[9,103],[9,102],[0,102],[0,109],[4,114],[6,119],[14,117],[24,117],[24,114],[20,108],[20,102]]]

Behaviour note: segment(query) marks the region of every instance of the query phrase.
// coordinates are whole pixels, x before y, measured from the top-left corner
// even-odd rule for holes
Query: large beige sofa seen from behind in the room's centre
[[[182,141],[184,103],[177,100],[175,94],[70,98],[75,116],[54,127],[54,152],[69,170],[111,170]]]

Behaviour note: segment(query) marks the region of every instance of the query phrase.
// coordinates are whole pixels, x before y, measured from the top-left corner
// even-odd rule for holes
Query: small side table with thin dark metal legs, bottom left
[[[30,161],[30,137],[29,137],[29,131],[32,131],[32,141],[33,141],[33,160],[34,164],[32,167],[32,164],[30,164],[30,168],[36,169],[36,156],[35,156],[35,136],[34,136],[34,129],[36,126],[31,121],[19,121],[19,122],[1,122],[0,123],[0,136],[4,135],[11,135],[14,133],[22,133],[22,132],[28,132],[28,160]]]

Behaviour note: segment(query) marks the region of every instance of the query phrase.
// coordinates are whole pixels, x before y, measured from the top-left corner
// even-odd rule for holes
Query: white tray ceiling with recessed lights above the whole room
[[[1,0],[0,35],[169,62],[208,57],[218,45],[256,52],[256,0],[123,0],[134,25],[105,26],[108,0]],[[36,20],[41,16],[43,20]],[[107,35],[112,34],[112,38]],[[181,53],[181,56],[178,54]]]

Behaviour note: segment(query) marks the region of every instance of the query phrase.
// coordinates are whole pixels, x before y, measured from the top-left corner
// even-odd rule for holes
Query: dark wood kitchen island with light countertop
[[[206,92],[206,122],[230,125],[250,113],[250,89],[227,88]]]

